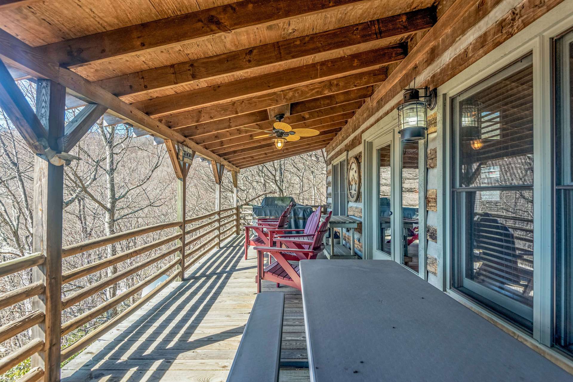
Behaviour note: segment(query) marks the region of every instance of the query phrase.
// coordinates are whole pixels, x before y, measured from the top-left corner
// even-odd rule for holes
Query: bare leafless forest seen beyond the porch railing
[[[33,105],[34,84],[19,83]],[[68,110],[71,119],[80,109]],[[70,153],[81,158],[66,166],[64,172],[64,246],[84,242],[141,226],[175,220],[176,179],[164,145],[154,145],[151,137],[133,137],[126,125],[104,126],[99,121]],[[34,156],[15,132],[0,109],[0,260],[7,261],[32,253]],[[187,216],[214,210],[215,184],[209,162],[195,159],[187,181]],[[241,170],[238,199],[243,203],[264,192],[293,196],[301,204],[325,204],[325,154],[323,150]],[[233,205],[232,182],[225,174],[222,184],[222,208]],[[260,198],[254,203],[260,202]],[[121,241],[64,258],[63,272],[157,240],[161,232]],[[196,234],[200,234],[197,232]],[[154,237],[154,235],[156,237]],[[164,250],[162,248],[161,250]],[[69,296],[102,278],[128,269],[152,256],[130,258],[115,266],[65,284],[62,297]],[[173,255],[174,256],[174,255]],[[172,261],[163,261],[127,277],[95,296],[73,305],[62,313],[62,323],[112,299],[149,274]],[[0,293],[31,282],[31,272],[0,279]],[[62,346],[77,340],[117,315],[140,297],[133,296],[124,305],[111,309],[62,339]],[[30,300],[0,310],[0,325],[31,311]],[[29,333],[0,344],[0,356],[29,341]]]

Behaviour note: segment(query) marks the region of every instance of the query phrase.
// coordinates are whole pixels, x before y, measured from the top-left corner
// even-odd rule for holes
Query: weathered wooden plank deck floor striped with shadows
[[[62,368],[62,381],[225,381],[256,296],[256,254],[244,259],[244,237],[205,256]],[[300,291],[285,293],[283,360],[307,360]],[[309,381],[308,370],[282,369],[280,380]]]

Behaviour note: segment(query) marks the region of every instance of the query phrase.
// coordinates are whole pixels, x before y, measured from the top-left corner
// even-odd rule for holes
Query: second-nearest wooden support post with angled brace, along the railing
[[[181,247],[181,250],[177,252],[177,256],[180,258],[179,265],[177,265],[177,272],[179,272],[179,277],[176,281],[185,280],[185,215],[186,215],[186,201],[187,201],[187,174],[191,168],[191,164],[179,160],[177,144],[175,141],[165,140],[165,147],[173,169],[175,171],[175,176],[177,177],[177,220],[181,222],[181,225],[177,228],[177,232],[181,232],[181,238],[177,240],[177,245]]]

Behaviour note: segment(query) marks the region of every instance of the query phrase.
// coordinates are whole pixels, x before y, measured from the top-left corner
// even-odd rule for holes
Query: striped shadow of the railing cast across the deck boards
[[[134,372],[145,371],[150,373],[146,373],[145,376],[141,375],[142,379],[140,380],[156,381],[170,367],[170,361],[166,361],[162,352],[170,351],[169,359],[176,359],[178,351],[180,353],[193,351],[206,344],[217,343],[218,341],[241,335],[244,331],[244,325],[217,333],[215,335],[217,340],[210,340],[210,337],[214,336],[213,333],[210,333],[197,340],[188,341],[194,333],[193,329],[201,324],[206,313],[209,312],[218,299],[219,292],[225,289],[233,273],[254,268],[253,266],[237,269],[243,254],[244,237],[231,238],[224,247],[215,250],[208,255],[209,257],[198,264],[186,277],[186,280],[169,292],[167,297],[149,308],[146,314],[124,329],[123,333],[111,340],[91,360],[86,361],[79,371],[69,371],[70,374],[62,381],[77,380],[77,377],[74,377],[76,373],[80,373],[81,376],[85,377],[85,372],[88,371],[88,368],[95,365],[97,365],[96,369],[90,373],[95,379],[104,379],[113,372],[113,380],[121,380],[128,373],[133,375]],[[223,260],[223,258],[226,258],[226,260]],[[253,292],[255,290],[253,286]],[[195,299],[194,303],[187,305],[187,301],[193,299]],[[171,313],[168,316],[163,316],[168,309],[172,309]],[[186,317],[187,315],[190,316],[189,319],[185,319],[180,323],[176,322],[178,316]],[[148,333],[148,328],[159,323],[159,320],[162,325],[156,326],[151,334]],[[135,343],[132,344],[132,341],[138,341],[143,336],[146,336],[145,340],[137,347],[133,347]],[[158,341],[160,338],[163,338],[166,344],[164,347],[161,343],[151,342]],[[179,345],[185,344],[185,346],[178,346],[177,349],[174,349],[172,348],[174,341]],[[124,344],[125,346],[122,346]],[[155,347],[149,349],[148,347],[150,346]],[[130,354],[126,357],[125,355],[128,352]],[[121,363],[131,359],[137,361],[150,360],[150,364],[158,361],[161,363],[154,364],[154,370],[146,368],[144,366],[145,362],[135,367],[134,365],[126,365],[125,369],[118,367]]]

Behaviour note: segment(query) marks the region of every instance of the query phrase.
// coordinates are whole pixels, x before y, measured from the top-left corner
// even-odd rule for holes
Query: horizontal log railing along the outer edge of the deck
[[[164,235],[164,237],[159,238],[158,240],[148,242],[147,244],[104,258],[103,260],[94,261],[90,264],[63,272],[61,274],[62,286],[79,280],[80,278],[91,276],[100,270],[120,264],[128,259],[148,254],[148,257],[142,258],[142,260],[136,264],[130,264],[127,269],[102,278],[93,284],[85,286],[85,288],[80,289],[79,291],[64,296],[61,299],[62,311],[73,307],[73,305],[81,303],[81,301],[84,301],[85,299],[96,295],[96,293],[117,284],[117,282],[125,280],[125,278],[135,274],[136,272],[140,272],[154,264],[158,264],[160,261],[163,261],[163,263],[166,262],[166,264],[161,263],[161,265],[163,265],[162,268],[119,295],[105,301],[103,304],[95,308],[89,309],[89,311],[84,312],[69,321],[66,321],[61,325],[61,336],[72,333],[93,319],[103,315],[105,312],[109,311],[109,309],[115,308],[117,305],[124,303],[124,301],[135,296],[146,286],[151,285],[160,277],[168,275],[168,278],[155,286],[151,292],[147,293],[134,304],[119,313],[119,315],[106,321],[103,325],[81,337],[68,347],[60,349],[61,361],[69,359],[69,357],[72,357],[74,354],[99,339],[113,326],[125,320],[129,315],[135,312],[136,309],[147,303],[147,301],[157,295],[157,293],[162,291],[162,289],[172,281],[180,279],[185,270],[189,269],[193,264],[195,264],[195,262],[205,256],[205,254],[209,253],[214,248],[219,248],[221,243],[227,240],[230,236],[239,234],[241,226],[244,225],[245,222],[250,222],[250,218],[252,218],[252,209],[250,210],[250,213],[248,210],[248,206],[245,208],[242,206],[225,208],[202,216],[187,218],[185,220],[185,224],[182,224],[182,221],[165,222],[96,238],[62,248],[63,258],[115,244],[120,241],[140,237],[144,234],[159,233]],[[183,227],[185,227],[184,234],[182,232]],[[172,228],[178,228],[178,232],[172,233],[172,230],[170,232],[167,231]],[[180,243],[184,243],[183,246],[185,248],[182,248]],[[150,254],[152,250],[156,249],[160,252]],[[44,254],[33,253],[15,260],[2,262],[0,263],[0,277],[22,272],[29,268],[41,267],[45,260],[46,258]],[[11,305],[30,299],[31,297],[38,297],[41,300],[47,300],[46,294],[49,294],[50,292],[52,291],[46,291],[46,285],[44,282],[34,282],[32,284],[22,286],[21,288],[14,289],[13,291],[0,295],[0,309],[10,307]],[[56,293],[60,293],[61,295],[61,291],[56,291]],[[0,327],[0,343],[22,333],[23,331],[27,331],[34,327],[34,325],[42,326],[49,322],[50,317],[46,317],[45,313],[40,310],[28,313],[27,315]],[[28,359],[28,357],[33,356],[38,352],[45,351],[45,349],[46,346],[44,341],[41,339],[32,339],[25,346],[0,360],[0,375]],[[35,382],[43,377],[44,370],[40,367],[35,367],[31,369],[28,374],[22,377],[21,380]]]

